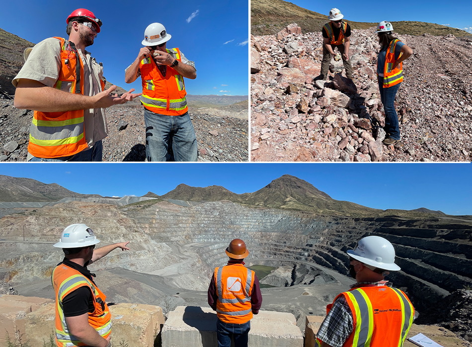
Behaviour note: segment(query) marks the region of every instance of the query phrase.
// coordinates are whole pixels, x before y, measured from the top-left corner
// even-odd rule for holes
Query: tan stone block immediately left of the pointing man
[[[37,310],[28,313],[25,317],[25,333],[30,346],[48,344],[52,336],[56,337],[55,319],[56,304],[51,302],[42,305]]]

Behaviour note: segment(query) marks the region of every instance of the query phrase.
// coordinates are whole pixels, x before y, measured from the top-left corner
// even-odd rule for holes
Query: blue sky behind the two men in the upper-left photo
[[[144,30],[159,22],[178,47],[195,61],[197,78],[185,79],[188,94],[248,95],[248,1],[2,1],[0,28],[32,43],[48,37],[67,38],[66,18],[86,8],[103,25],[92,46],[92,57],[103,62],[108,81],[142,91],[141,78],[125,83],[125,68],[143,47]]]

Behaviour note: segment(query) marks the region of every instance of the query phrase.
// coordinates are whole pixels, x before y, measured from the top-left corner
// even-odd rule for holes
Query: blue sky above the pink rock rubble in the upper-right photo
[[[290,0],[290,2],[325,15],[329,14],[332,7],[336,7],[347,20],[354,22],[418,21],[447,25],[472,33],[472,1],[470,0],[456,0],[453,2],[442,0],[393,2],[337,0],[332,3]]]

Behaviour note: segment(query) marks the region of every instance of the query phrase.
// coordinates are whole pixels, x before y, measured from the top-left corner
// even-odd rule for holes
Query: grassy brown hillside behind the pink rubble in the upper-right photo
[[[326,8],[329,8],[329,6]],[[376,27],[378,24],[378,22],[353,22],[349,20],[349,13],[343,14],[344,19],[348,21],[352,29],[367,29]],[[251,0],[252,35],[276,34],[291,23],[297,23],[304,33],[317,32],[321,31],[322,26],[328,21],[328,16],[299,7],[291,2],[283,0]],[[472,34],[466,31],[434,23],[399,21],[392,22],[392,24],[395,32],[398,34],[422,35],[427,33],[435,36],[453,34],[457,37],[472,37]]]

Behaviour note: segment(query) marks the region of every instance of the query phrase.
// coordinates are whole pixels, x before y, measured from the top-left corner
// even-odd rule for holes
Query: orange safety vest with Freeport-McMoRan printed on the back
[[[402,347],[413,323],[414,308],[400,289],[372,286],[344,295],[353,316],[353,329],[343,347]],[[333,303],[334,303],[333,301]],[[326,314],[333,304],[326,306]],[[321,340],[316,339],[316,345]]]

